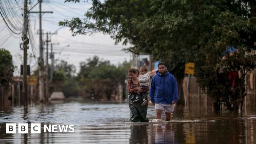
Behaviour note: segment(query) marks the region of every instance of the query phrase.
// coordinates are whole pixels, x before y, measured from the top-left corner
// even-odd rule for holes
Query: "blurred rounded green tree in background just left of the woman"
[[[127,66],[124,63],[122,66]],[[94,56],[80,63],[78,74],[80,85],[95,99],[110,100],[111,95],[117,93],[118,85],[124,85],[124,67],[115,67],[109,61],[99,60]]]

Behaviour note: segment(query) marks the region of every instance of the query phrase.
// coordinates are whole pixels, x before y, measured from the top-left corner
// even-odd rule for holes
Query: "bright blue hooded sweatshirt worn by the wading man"
[[[178,99],[178,87],[175,77],[166,71],[166,75],[161,76],[157,71],[150,84],[149,97],[151,102],[156,104],[172,104]]]

